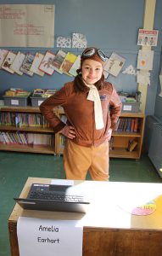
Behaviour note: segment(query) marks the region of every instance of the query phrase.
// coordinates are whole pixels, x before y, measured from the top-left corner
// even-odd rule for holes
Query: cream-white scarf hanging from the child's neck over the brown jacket
[[[101,107],[101,100],[99,97],[98,89],[93,84],[86,84],[86,85],[87,87],[90,88],[87,96],[87,100],[94,102],[94,119],[95,119],[96,130],[103,129],[104,127],[103,111]]]

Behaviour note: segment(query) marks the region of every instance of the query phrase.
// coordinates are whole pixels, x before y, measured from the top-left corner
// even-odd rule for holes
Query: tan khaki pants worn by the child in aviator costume
[[[64,170],[67,179],[109,180],[109,142],[98,147],[82,147],[67,139],[64,146]]]

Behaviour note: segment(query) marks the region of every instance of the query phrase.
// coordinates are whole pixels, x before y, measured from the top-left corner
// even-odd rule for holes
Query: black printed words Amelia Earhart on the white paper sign
[[[39,231],[41,232],[56,232],[56,233],[59,233],[59,228],[55,227],[55,226],[50,226],[50,227],[45,227],[45,226],[42,226],[40,225],[39,228],[38,228]],[[41,236],[38,236],[37,237],[37,242],[42,242],[42,243],[53,243],[53,244],[59,244],[59,238],[57,239],[51,239],[49,237],[47,238],[42,238]]]

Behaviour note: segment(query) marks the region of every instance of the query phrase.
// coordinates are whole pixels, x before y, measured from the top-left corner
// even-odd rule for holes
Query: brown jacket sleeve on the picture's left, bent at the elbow
[[[47,119],[51,127],[53,127],[53,131],[55,132],[61,131],[65,124],[59,119],[56,113],[54,113],[54,108],[63,106],[66,102],[65,99],[66,93],[65,88],[63,87],[53,96],[48,97],[39,107],[41,113],[44,115],[45,119]]]

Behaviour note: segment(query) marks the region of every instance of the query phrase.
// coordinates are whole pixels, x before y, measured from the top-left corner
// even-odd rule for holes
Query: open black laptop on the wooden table
[[[27,210],[86,213],[90,201],[75,186],[55,184],[31,184],[27,198],[14,198]]]

